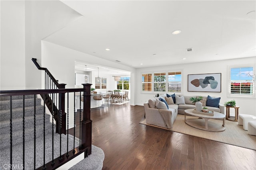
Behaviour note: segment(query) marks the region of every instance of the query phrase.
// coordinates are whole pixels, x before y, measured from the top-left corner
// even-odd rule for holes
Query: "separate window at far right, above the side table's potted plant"
[[[253,67],[230,68],[230,94],[252,95]]]

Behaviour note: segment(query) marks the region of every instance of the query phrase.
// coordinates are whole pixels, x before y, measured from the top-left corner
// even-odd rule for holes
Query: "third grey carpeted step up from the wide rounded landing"
[[[44,106],[36,106],[36,115],[44,113]],[[34,115],[34,106],[25,107],[25,117]],[[12,109],[12,119],[22,118],[23,108]],[[10,109],[0,111],[0,120],[6,121],[10,120]]]

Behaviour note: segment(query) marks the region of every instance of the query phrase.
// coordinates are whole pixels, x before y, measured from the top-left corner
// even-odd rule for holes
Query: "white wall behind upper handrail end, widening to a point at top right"
[[[65,27],[81,15],[60,1],[25,1],[26,24],[26,87],[40,88],[41,70],[31,59],[41,64],[41,40]]]

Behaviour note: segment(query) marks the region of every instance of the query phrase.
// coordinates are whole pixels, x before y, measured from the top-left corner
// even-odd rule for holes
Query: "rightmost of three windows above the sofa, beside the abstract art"
[[[181,72],[168,72],[168,92],[181,92]]]

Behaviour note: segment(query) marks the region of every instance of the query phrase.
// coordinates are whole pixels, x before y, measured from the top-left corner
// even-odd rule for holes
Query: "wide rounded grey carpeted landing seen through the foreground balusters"
[[[45,145],[45,162],[50,162],[52,160],[52,134],[46,135],[46,145]],[[43,136],[36,139],[36,168],[43,165]],[[61,153],[64,154],[67,151],[67,135],[61,135],[62,148]],[[74,137],[69,135],[68,137],[68,150],[73,150]],[[22,164],[23,151],[22,143],[20,145],[13,146],[12,153],[12,164]],[[60,136],[54,133],[54,158],[60,156]],[[75,139],[75,147],[79,146],[79,141]],[[10,150],[9,148],[2,149],[0,155],[0,169],[4,169],[4,164],[10,163]],[[34,140],[27,141],[25,143],[25,170],[34,169]]]

